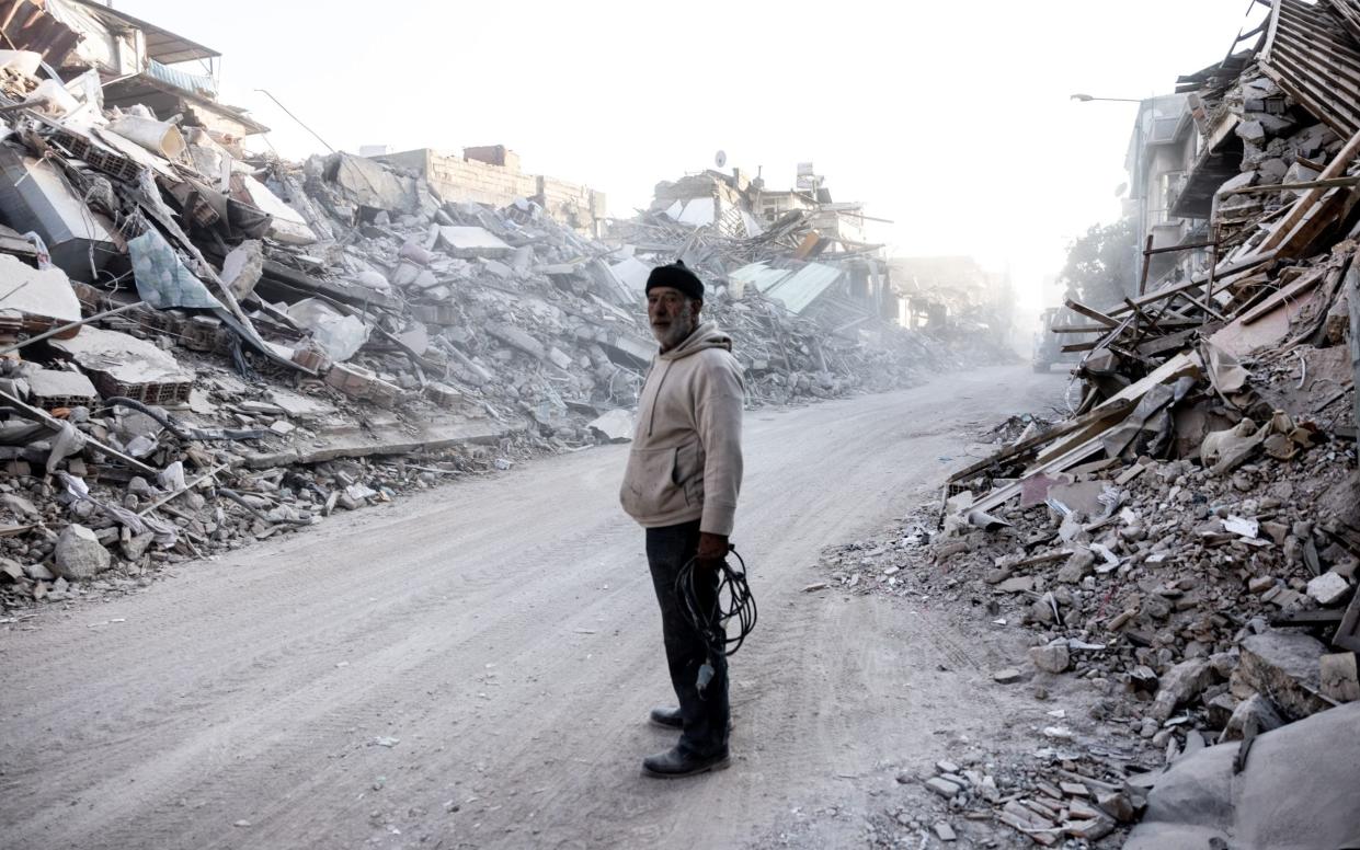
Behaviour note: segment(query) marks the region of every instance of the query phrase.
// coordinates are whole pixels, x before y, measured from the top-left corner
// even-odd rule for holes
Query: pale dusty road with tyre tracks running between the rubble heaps
[[[989,369],[748,415],[734,540],[760,626],[733,660],[728,771],[639,774],[670,744],[643,722],[669,685],[615,446],[5,627],[0,845],[740,847],[801,806],[868,805],[941,736],[1004,738],[1010,706],[994,650],[944,616],[802,593],[817,554],[937,492],[976,426],[1062,384]],[[830,828],[806,840],[858,827]]]

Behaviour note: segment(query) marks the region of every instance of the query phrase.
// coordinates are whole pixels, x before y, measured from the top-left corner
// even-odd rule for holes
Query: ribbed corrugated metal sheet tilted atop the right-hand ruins
[[[1261,69],[1342,139],[1360,131],[1360,44],[1322,7],[1274,0]]]

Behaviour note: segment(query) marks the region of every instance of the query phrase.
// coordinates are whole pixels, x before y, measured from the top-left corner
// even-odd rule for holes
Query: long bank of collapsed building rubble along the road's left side
[[[0,3],[0,30],[7,607],[627,439],[643,286],[676,257],[711,282],[751,405],[966,359],[864,306],[883,269],[821,257],[849,239],[824,209],[605,241],[602,194],[503,147],[250,154],[267,128],[218,102],[215,50],[98,3]]]

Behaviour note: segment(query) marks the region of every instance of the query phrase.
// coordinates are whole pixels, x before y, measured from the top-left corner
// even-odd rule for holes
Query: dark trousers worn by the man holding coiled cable
[[[703,636],[685,620],[684,602],[676,596],[676,575],[699,551],[699,521],[647,529],[647,564],[661,605],[661,634],[666,642],[670,684],[680,699],[684,732],[680,749],[709,756],[728,745],[728,657],[710,653]],[[710,612],[718,607],[718,573],[695,571],[699,602]],[[699,694],[699,668],[713,665],[713,680]]]

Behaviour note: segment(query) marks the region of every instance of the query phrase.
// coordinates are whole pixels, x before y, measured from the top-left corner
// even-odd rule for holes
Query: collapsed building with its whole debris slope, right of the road
[[[1141,219],[1122,303],[1068,299],[1070,415],[1005,423],[942,511],[828,562],[1032,630],[1001,685],[1095,688],[1114,740],[1054,724],[1006,782],[976,762],[925,781],[1042,846],[1360,840],[1360,4],[1263,5],[1140,114],[1166,150],[1136,192],[1174,215]]]

